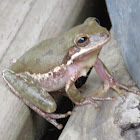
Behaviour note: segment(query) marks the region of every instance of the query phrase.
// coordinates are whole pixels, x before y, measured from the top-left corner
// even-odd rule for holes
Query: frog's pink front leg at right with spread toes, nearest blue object
[[[109,73],[108,69],[106,68],[106,66],[103,64],[103,62],[99,58],[96,60],[94,68],[95,68],[96,72],[98,73],[98,75],[101,77],[101,79],[104,81],[104,89],[102,91],[97,91],[97,94],[103,94],[103,93],[107,92],[110,88],[113,88],[114,90],[116,90],[116,92],[118,92],[118,94],[120,96],[124,95],[120,91],[120,88],[125,89],[129,92],[133,92],[135,94],[140,93],[140,91],[130,89],[130,87],[133,86],[134,84],[124,85],[124,84],[117,82],[114,79],[114,77]]]

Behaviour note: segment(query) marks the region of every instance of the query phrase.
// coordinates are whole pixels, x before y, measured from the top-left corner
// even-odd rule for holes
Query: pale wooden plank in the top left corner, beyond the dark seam
[[[33,0],[3,0],[0,3],[0,44],[2,46],[0,61],[14,41],[33,4]]]

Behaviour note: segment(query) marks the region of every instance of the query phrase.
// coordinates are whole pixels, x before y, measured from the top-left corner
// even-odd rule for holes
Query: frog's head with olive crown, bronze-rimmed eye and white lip
[[[99,53],[102,46],[110,39],[107,29],[101,27],[92,17],[74,30],[74,45],[69,50],[69,63],[92,52]]]

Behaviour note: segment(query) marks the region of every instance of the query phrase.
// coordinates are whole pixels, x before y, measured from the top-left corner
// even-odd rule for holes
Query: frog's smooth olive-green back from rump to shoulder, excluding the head
[[[58,43],[57,38],[40,42],[23,54],[10,69],[17,73],[44,73],[65,63],[67,47]]]

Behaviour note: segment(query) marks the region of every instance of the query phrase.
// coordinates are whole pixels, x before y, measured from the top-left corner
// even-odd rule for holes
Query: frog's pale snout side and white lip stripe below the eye
[[[75,53],[71,59],[67,62],[67,65],[70,65],[73,63],[74,60],[80,59],[90,53],[96,52],[97,50],[100,50],[104,44],[106,44],[110,39],[109,32],[106,33],[98,33],[96,35],[91,35],[89,39],[89,44],[85,47],[81,47],[80,51]]]

